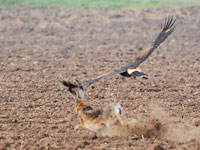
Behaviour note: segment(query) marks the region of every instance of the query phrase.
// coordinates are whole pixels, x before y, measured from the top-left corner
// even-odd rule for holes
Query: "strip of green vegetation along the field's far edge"
[[[161,0],[0,0],[0,5],[6,6],[45,6],[62,5],[71,7],[162,7],[162,6],[200,6],[197,1],[161,1]]]

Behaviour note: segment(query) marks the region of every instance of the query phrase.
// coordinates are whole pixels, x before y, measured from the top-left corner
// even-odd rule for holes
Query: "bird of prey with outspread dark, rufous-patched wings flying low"
[[[132,63],[129,63],[125,66],[122,66],[120,68],[111,70],[107,73],[104,73],[92,80],[88,80],[82,83],[78,84],[72,84],[70,82],[63,81],[63,85],[67,86],[69,88],[69,91],[72,92],[74,88],[78,88],[79,90],[79,95],[81,98],[84,97],[84,88],[87,86],[90,86],[94,82],[97,82],[101,79],[104,78],[109,78],[114,75],[120,74],[124,77],[142,77],[146,78],[147,74],[143,73],[138,66],[143,63],[154,51],[155,49],[167,39],[167,37],[175,30],[175,22],[176,19],[174,19],[173,16],[169,16],[168,18],[165,19],[164,26],[157,36],[156,40],[153,42],[151,46],[149,46],[147,49],[142,50],[135,58],[135,60]]]

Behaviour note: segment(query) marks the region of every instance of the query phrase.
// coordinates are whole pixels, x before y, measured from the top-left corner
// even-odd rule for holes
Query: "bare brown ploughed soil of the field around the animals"
[[[200,149],[200,8],[75,9],[0,6],[0,149]],[[74,98],[62,80],[85,81],[148,47],[168,15],[176,31],[145,63],[145,86],[115,76],[86,90],[87,103],[119,102],[129,118],[156,115],[160,139],[75,131]],[[166,116],[162,117],[165,112]]]

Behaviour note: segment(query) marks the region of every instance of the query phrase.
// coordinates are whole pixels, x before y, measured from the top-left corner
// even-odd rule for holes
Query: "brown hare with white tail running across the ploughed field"
[[[94,109],[82,100],[83,97],[76,91],[75,84],[63,81],[63,85],[67,86],[69,91],[76,97],[74,111],[80,118],[80,125],[75,127],[76,130],[86,128],[97,132],[104,127],[110,127],[117,123],[125,124],[123,110],[119,103],[110,103],[103,108]]]

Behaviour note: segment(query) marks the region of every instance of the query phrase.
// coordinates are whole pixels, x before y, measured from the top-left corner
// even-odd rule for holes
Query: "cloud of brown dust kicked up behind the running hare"
[[[157,138],[174,142],[200,141],[200,127],[179,118],[170,117],[159,106],[151,105],[148,117],[135,121],[127,119],[126,124],[116,124],[101,131],[103,136],[137,136],[138,138]],[[129,121],[128,121],[129,120]],[[179,121],[177,121],[179,120]],[[181,122],[180,122],[181,120]]]

